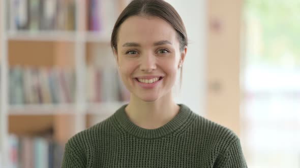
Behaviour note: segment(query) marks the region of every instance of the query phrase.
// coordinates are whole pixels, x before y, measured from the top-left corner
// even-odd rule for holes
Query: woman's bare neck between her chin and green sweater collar
[[[175,117],[179,106],[171,95],[165,95],[154,102],[145,102],[131,95],[125,111],[130,120],[139,127],[157,129]]]

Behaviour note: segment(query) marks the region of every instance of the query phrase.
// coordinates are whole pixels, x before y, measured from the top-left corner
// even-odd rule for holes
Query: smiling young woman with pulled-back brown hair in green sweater
[[[247,167],[234,133],[173,100],[187,45],[172,6],[132,1],[111,35],[130,102],[72,137],[62,167]]]

